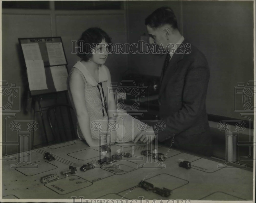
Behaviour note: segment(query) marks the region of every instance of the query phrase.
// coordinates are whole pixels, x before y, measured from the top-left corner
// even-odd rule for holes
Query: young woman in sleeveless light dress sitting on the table
[[[104,65],[111,38],[100,28],[89,28],[79,39],[78,61],[71,69],[67,87],[77,115],[77,133],[90,147],[109,142],[146,141],[148,126],[125,112],[117,112],[109,69]],[[110,135],[110,139],[107,139]]]

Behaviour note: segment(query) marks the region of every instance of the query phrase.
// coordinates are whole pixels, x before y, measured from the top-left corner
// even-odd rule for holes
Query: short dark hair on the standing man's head
[[[158,8],[145,19],[145,25],[151,28],[159,28],[166,24],[171,25],[174,29],[178,29],[176,16],[173,9],[169,7]]]

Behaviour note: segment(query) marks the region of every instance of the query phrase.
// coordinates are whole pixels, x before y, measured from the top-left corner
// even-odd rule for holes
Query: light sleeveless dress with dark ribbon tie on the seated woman
[[[67,78],[67,88],[73,109],[76,110],[69,87],[69,78],[74,72],[78,73],[84,81],[84,102],[90,117],[92,139],[99,140],[100,136],[106,136],[108,128],[107,105],[105,104],[107,103],[106,95],[108,94],[109,88],[107,87],[108,75],[106,66],[99,66],[99,82],[92,77],[90,72],[80,61],[70,70]],[[111,130],[116,130],[117,133],[116,142],[133,141],[142,130],[148,127],[147,124],[137,120],[124,111],[118,110],[117,113],[117,122],[115,125],[111,126]],[[78,122],[77,135],[79,139],[84,140]]]

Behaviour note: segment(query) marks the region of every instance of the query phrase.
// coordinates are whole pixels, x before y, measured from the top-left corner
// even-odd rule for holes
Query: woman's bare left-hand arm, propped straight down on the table
[[[84,81],[79,73],[73,72],[69,79],[70,92],[73,98],[77,120],[83,137],[90,147],[98,147],[103,143],[93,140],[91,135],[90,117],[86,109],[84,98]]]

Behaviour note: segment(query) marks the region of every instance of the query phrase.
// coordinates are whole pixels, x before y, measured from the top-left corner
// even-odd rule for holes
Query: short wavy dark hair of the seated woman
[[[105,40],[107,44],[111,43],[109,35],[100,28],[89,28],[82,33],[82,36],[78,40],[78,53],[77,55],[84,61],[88,61],[92,57],[92,45],[98,45],[102,40]]]

